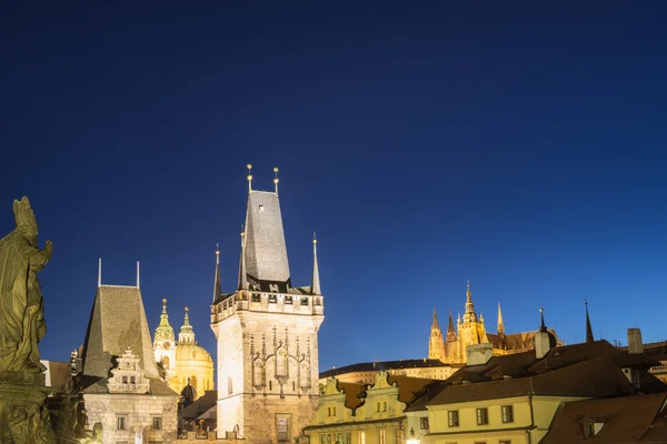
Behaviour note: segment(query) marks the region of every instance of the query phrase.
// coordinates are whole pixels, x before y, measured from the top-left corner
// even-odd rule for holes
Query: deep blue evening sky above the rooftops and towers
[[[116,284],[140,260],[151,330],[189,305],[215,354],[249,162],[258,189],[280,168],[295,284],[318,232],[321,370],[425,356],[468,279],[491,331],[498,302],[508,332],[544,306],[581,341],[587,297],[596,336],[667,336],[663,2],[19,3],[0,232],[27,194],[53,240],[43,357],[82,343],[100,256]]]

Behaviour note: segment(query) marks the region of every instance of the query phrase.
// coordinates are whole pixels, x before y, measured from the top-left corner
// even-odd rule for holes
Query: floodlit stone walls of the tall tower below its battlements
[[[322,316],[310,314],[238,311],[212,325],[218,438],[238,427],[249,444],[276,443],[278,422],[285,418],[293,442],[317,407],[321,322]]]

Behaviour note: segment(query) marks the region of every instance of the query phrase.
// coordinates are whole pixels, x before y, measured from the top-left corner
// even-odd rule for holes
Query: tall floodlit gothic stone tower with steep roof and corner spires
[[[278,179],[275,192],[252,190],[251,180],[248,174],[237,290],[221,293],[219,261],[213,285],[218,437],[236,432],[248,444],[289,443],[318,404],[317,333],[325,319],[323,297],[317,255],[311,285],[291,285]],[[313,253],[315,246],[313,241]]]

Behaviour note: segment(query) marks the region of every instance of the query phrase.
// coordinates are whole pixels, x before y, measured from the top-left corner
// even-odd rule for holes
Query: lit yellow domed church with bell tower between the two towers
[[[213,390],[213,360],[197,344],[188,307],[176,341],[173,329],[169,324],[167,300],[162,300],[162,314],[160,325],[156,329],[153,353],[156,361],[162,365],[171,390],[181,393],[187,385],[191,385],[195,389],[195,398],[203,395],[207,390]]]

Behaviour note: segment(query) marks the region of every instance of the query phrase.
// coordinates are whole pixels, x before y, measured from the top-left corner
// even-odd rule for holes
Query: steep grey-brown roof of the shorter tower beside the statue
[[[83,374],[109,377],[127,347],[139,356],[146,376],[158,379],[141,292],[136,286],[102,285],[98,287],[83,344]]]

